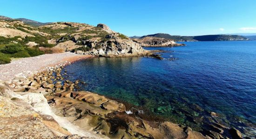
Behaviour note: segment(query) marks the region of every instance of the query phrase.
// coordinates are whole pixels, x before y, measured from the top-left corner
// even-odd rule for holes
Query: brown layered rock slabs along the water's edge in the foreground
[[[48,96],[47,100],[58,116],[111,139],[208,139],[189,127],[126,114],[122,103],[91,92],[67,91]]]

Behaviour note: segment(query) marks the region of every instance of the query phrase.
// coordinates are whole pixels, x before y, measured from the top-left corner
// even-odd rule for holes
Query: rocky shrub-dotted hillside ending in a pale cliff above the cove
[[[3,16],[1,19],[5,20],[0,20],[0,63],[9,63],[11,57],[34,57],[64,51],[105,57],[147,52],[140,44],[104,24],[56,22],[35,27],[25,21]],[[26,22],[33,21],[26,19]]]

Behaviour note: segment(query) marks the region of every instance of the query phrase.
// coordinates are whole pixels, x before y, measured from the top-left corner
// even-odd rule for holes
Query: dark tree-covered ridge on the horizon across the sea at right
[[[241,35],[202,35],[202,36],[172,36],[166,33],[156,33],[151,35],[142,36],[145,37],[156,37],[156,38],[167,38],[173,39],[174,41],[179,42],[194,42],[194,41],[237,41],[237,40],[250,40]]]

